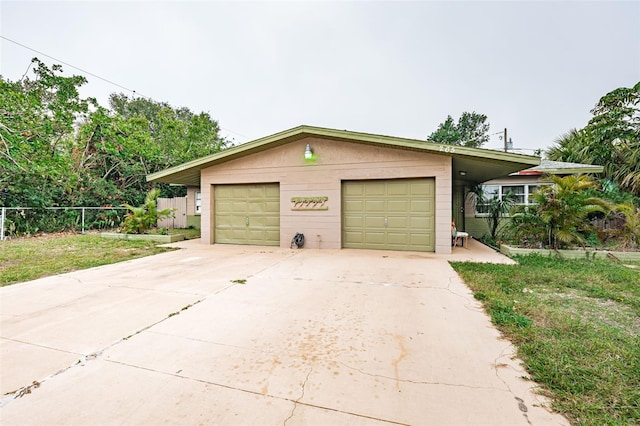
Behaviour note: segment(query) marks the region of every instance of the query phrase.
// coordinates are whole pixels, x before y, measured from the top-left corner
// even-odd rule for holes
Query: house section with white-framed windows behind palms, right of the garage
[[[566,176],[572,174],[602,173],[602,166],[589,164],[564,163],[561,161],[541,160],[540,164],[520,172],[512,173],[498,179],[484,182],[482,185],[485,198],[498,197],[502,199],[509,192],[515,196],[515,204],[521,206],[532,205],[531,194],[549,180],[547,175]],[[477,203],[473,194],[466,197],[464,208],[465,230],[475,238],[489,233],[489,226],[485,217],[487,206]]]

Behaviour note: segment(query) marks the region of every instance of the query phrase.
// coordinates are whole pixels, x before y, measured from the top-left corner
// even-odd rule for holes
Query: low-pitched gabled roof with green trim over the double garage
[[[267,149],[285,145],[307,137],[318,137],[339,142],[360,143],[372,146],[445,155],[452,157],[454,178],[469,182],[485,182],[499,176],[506,176],[524,168],[540,164],[540,158],[530,155],[480,148],[468,148],[464,146],[443,145],[419,139],[375,135],[349,130],[298,126],[293,129],[256,139],[206,157],[198,158],[184,164],[149,174],[147,176],[147,181],[199,186],[200,170],[202,169],[247,155],[256,154]]]

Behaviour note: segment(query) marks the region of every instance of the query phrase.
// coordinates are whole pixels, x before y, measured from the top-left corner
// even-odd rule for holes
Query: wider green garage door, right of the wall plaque
[[[435,251],[433,179],[342,183],[342,246]]]

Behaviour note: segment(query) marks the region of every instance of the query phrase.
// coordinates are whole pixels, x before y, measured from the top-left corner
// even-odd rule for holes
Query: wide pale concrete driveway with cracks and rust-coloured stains
[[[470,243],[190,241],[2,288],[0,423],[568,424],[447,263],[509,261]]]

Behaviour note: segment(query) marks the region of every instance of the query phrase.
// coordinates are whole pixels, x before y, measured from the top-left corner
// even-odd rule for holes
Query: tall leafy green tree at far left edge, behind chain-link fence
[[[63,77],[62,68],[37,58],[33,77],[11,82],[0,77],[0,189],[8,206],[55,206],[77,180],[66,143],[94,99],[83,99],[81,76]]]

